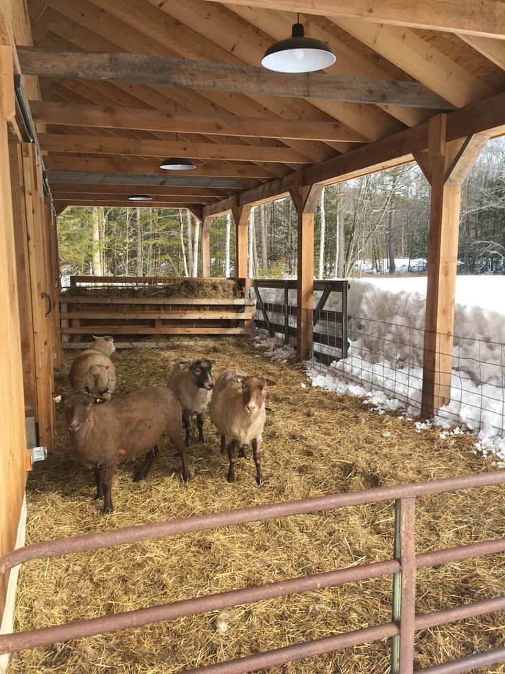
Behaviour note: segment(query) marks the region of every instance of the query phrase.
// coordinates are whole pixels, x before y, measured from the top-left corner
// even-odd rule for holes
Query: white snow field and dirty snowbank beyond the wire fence
[[[377,411],[421,410],[425,277],[351,279],[349,290],[349,354],[329,347],[329,368],[307,363],[312,385],[341,394],[365,396]],[[282,291],[262,289],[263,300],[283,302]],[[290,304],[296,293],[290,293]],[[340,295],[330,295],[325,308],[340,310]],[[281,319],[281,317],[279,317]],[[282,320],[279,320],[282,322]],[[324,322],[318,332],[331,333]],[[492,449],[505,460],[505,277],[458,276],[451,403],[435,422],[466,426],[478,436],[477,449]],[[274,347],[274,357],[289,350]],[[275,349],[277,348],[277,352]],[[319,347],[316,347],[319,348]]]

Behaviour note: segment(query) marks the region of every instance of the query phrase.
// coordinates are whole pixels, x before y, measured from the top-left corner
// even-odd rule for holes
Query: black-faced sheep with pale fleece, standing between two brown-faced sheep
[[[205,410],[211,399],[214,382],[211,368],[215,361],[205,359],[178,361],[167,386],[183,403],[183,423],[186,430],[186,447],[189,447],[189,427],[191,414],[196,414],[198,423],[198,440],[205,442],[203,436],[203,420]]]

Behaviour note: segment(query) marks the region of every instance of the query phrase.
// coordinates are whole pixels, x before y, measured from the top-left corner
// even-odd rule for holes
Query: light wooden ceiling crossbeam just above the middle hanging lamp
[[[139,157],[198,157],[226,161],[265,161],[278,164],[311,164],[311,160],[287,147],[255,145],[221,145],[218,143],[185,143],[137,138],[39,133],[43,150],[105,155],[137,155]]]

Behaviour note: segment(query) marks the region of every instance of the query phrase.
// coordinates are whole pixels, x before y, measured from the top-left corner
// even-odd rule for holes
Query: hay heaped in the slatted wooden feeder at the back
[[[128,278],[125,278],[127,281]],[[196,299],[209,297],[212,300],[231,300],[241,297],[241,290],[236,281],[228,278],[212,280],[181,278],[165,285],[146,285],[135,287],[84,287],[69,288],[62,293],[80,297],[187,297]]]

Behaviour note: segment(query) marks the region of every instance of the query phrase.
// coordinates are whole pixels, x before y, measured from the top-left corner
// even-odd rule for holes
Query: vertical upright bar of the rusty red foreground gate
[[[391,674],[414,671],[416,557],[414,550],[415,497],[395,502],[395,559],[401,570],[393,576],[392,619],[400,633],[391,639]]]

